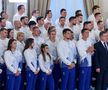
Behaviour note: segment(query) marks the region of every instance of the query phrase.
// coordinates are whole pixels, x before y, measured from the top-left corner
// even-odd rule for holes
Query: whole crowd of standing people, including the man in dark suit
[[[91,90],[92,77],[95,90],[108,89],[108,31],[98,5],[87,21],[81,10],[68,19],[63,8],[55,23],[51,10],[29,19],[24,5],[17,9],[13,22],[1,12],[1,90]]]

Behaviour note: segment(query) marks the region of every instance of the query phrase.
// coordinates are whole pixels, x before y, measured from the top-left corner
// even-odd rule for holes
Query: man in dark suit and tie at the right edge
[[[108,89],[108,44],[107,32],[100,32],[100,41],[94,45],[94,65],[97,72],[96,90]]]

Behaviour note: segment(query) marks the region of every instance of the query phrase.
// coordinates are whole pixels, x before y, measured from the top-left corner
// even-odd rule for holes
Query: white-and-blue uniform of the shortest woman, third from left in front
[[[46,88],[47,90],[54,90],[54,79],[52,75],[53,59],[50,59],[49,56],[46,55],[46,61],[44,61],[42,54],[40,54],[39,66],[41,69],[39,90],[46,90]],[[47,75],[49,71],[51,72],[51,74]]]

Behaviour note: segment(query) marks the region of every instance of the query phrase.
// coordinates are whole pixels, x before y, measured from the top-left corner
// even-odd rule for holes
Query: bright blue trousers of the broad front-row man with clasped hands
[[[76,68],[64,67],[61,72],[61,90],[74,90],[76,87]]]

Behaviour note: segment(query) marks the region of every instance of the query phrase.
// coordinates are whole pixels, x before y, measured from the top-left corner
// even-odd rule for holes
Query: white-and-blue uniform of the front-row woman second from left
[[[35,74],[36,70],[39,70],[37,53],[35,49],[26,49],[24,51],[24,57],[26,61],[26,81],[27,86],[26,90],[35,90],[37,74]]]

